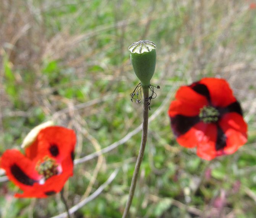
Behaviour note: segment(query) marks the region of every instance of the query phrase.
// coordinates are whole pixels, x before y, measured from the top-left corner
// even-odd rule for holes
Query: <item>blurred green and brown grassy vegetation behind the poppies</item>
[[[29,130],[44,121],[53,119],[73,128],[76,159],[107,150],[76,162],[75,175],[65,185],[70,207],[119,169],[104,191],[73,217],[121,217],[142,121],[142,105],[130,101],[138,79],[127,48],[147,39],[157,45],[151,82],[161,88],[151,102],[149,138],[131,217],[255,217],[254,4],[248,0],[1,0],[0,154],[19,148]],[[167,115],[177,88],[202,77],[227,79],[248,123],[248,143],[211,162],[176,143]],[[15,199],[17,190],[10,182],[0,183],[2,218],[46,218],[65,211],[58,194]]]

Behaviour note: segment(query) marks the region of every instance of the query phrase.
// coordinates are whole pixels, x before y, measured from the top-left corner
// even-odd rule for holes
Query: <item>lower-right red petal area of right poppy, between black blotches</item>
[[[227,113],[219,121],[220,128],[227,137],[224,154],[232,154],[247,141],[247,124],[240,114]]]

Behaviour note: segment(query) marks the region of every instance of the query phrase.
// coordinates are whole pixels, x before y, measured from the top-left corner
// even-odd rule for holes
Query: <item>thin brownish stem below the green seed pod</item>
[[[125,206],[125,210],[123,212],[122,218],[126,218],[128,216],[130,207],[131,207],[131,202],[133,201],[133,195],[134,191],[136,188],[136,183],[139,175],[139,168],[141,166],[141,162],[143,160],[143,155],[146,147],[146,141],[147,141],[147,126],[148,126],[148,112],[149,112],[149,106],[147,103],[149,102],[149,87],[143,87],[143,96],[144,96],[144,101],[143,101],[143,124],[142,124],[142,136],[141,136],[141,147],[139,149],[139,155],[137,157],[136,165],[134,168],[133,172],[133,178],[131,180],[131,186],[130,186],[130,191],[129,191],[129,196],[128,196],[128,201]]]

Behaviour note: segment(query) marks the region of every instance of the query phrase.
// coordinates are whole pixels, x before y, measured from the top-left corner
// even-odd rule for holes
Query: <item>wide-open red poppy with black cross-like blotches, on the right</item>
[[[197,147],[199,157],[211,160],[246,143],[240,104],[224,79],[205,78],[180,87],[175,97],[169,116],[181,146]]]

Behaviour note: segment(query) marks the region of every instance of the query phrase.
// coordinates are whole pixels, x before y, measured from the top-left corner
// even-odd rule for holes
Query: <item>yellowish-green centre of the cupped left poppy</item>
[[[58,164],[56,161],[48,156],[45,156],[41,161],[39,160],[36,165],[36,171],[44,176],[44,179],[47,180],[50,177],[58,174]]]

